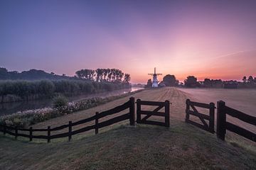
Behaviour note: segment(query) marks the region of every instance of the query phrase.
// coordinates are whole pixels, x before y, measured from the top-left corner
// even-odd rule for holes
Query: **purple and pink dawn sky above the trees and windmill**
[[[0,67],[256,77],[256,1],[0,0]],[[159,77],[159,80],[163,78]]]

